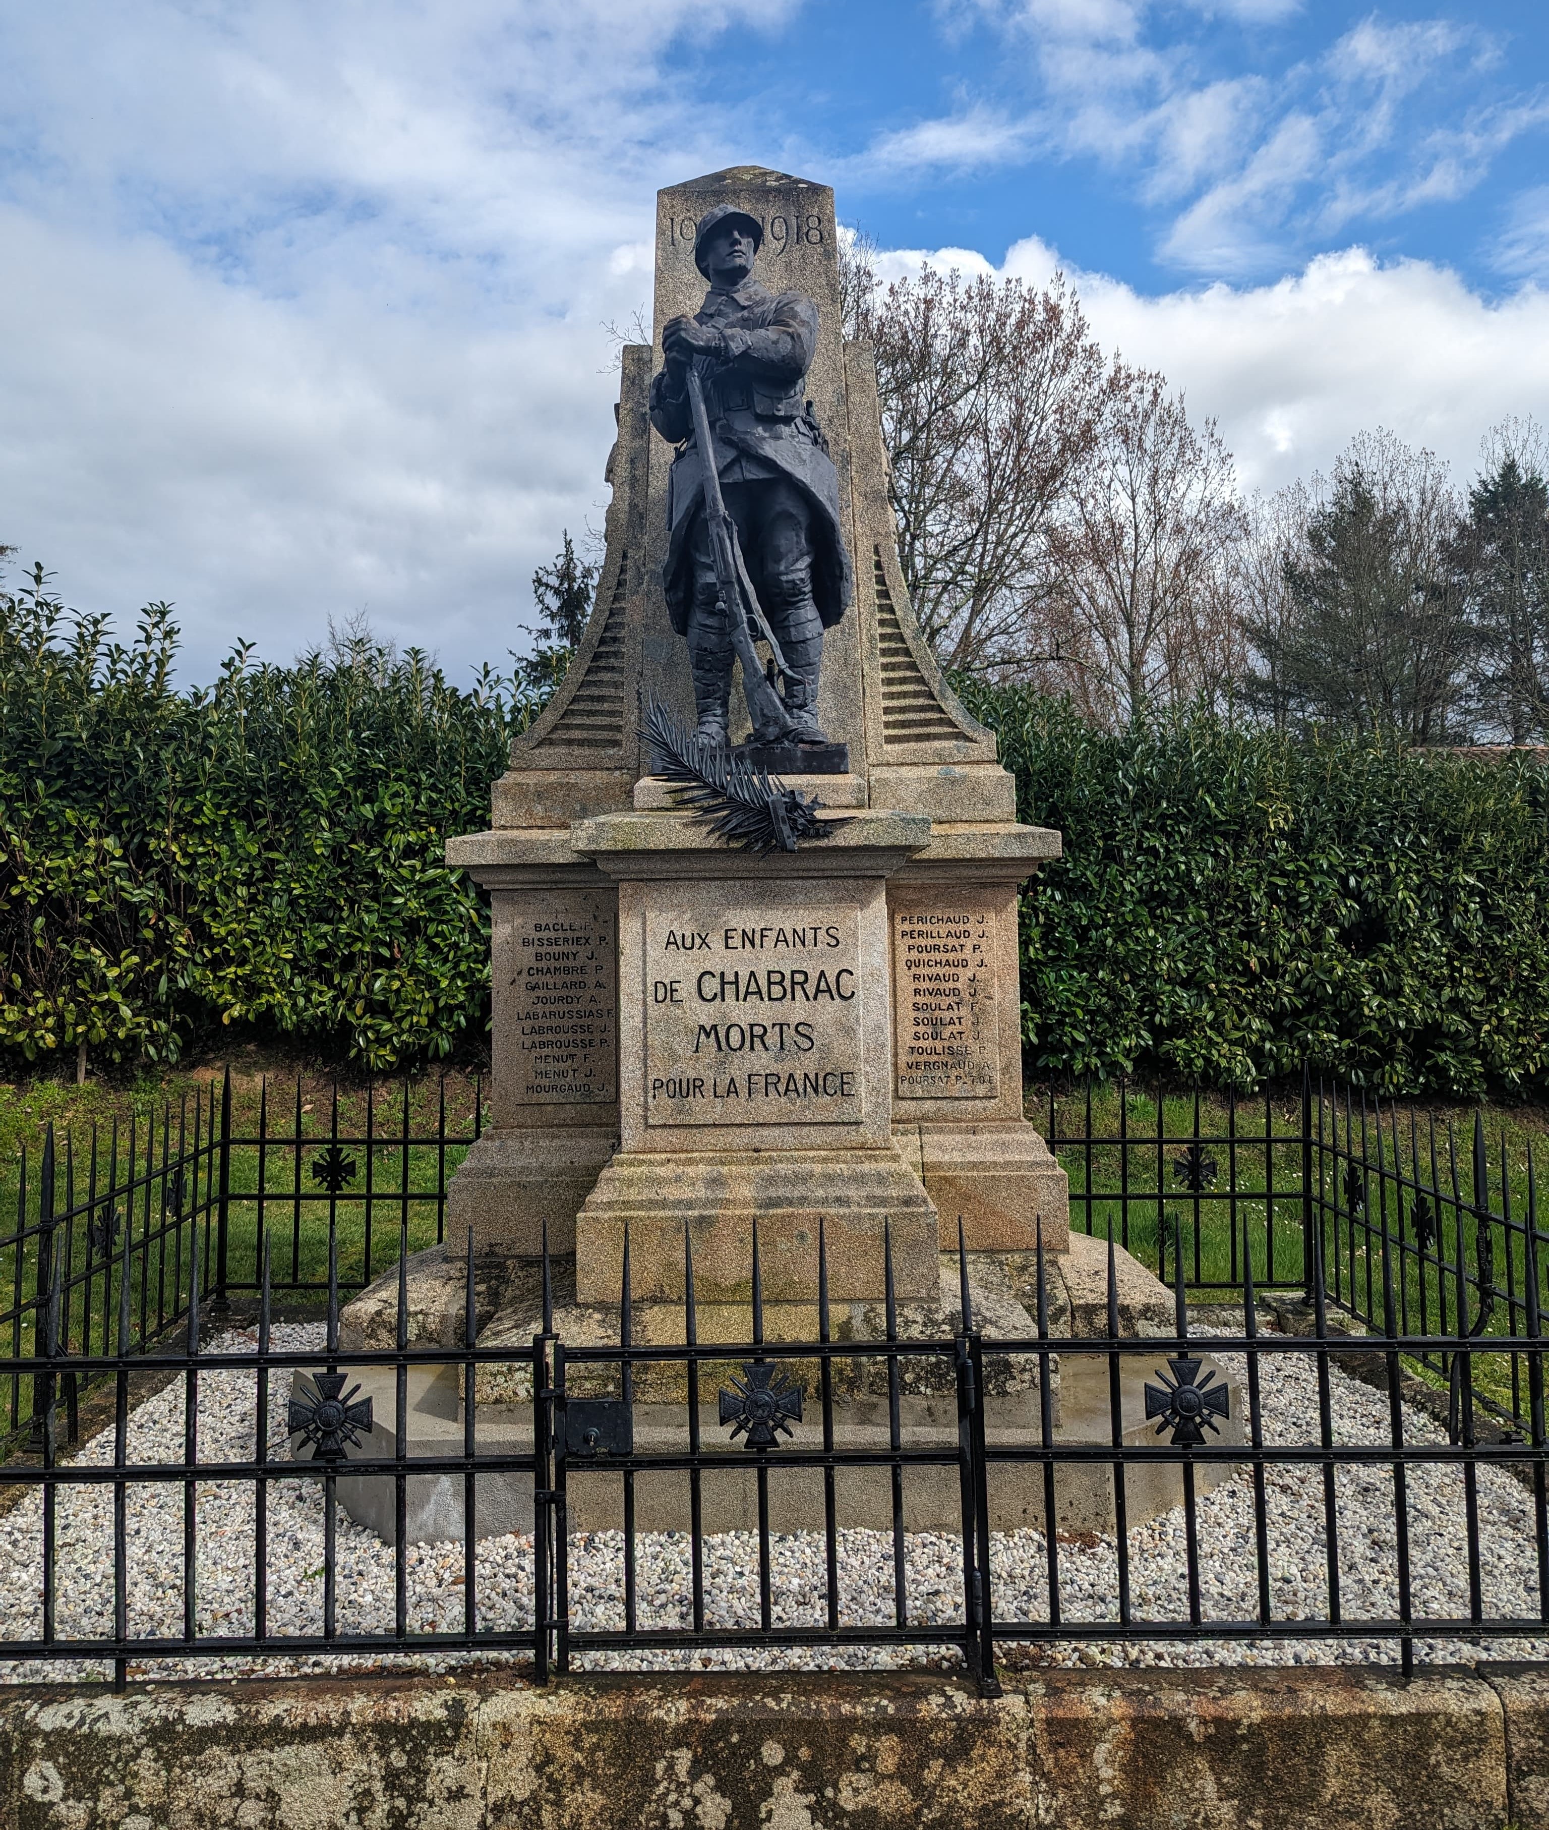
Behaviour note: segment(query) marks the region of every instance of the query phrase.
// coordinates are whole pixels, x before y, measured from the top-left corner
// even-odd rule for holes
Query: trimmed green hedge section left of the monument
[[[0,1047],[168,1061],[256,1025],[390,1069],[483,1030],[488,910],[441,853],[488,824],[497,683],[357,642],[179,694],[174,648],[165,606],[123,650],[42,580],[0,595]]]

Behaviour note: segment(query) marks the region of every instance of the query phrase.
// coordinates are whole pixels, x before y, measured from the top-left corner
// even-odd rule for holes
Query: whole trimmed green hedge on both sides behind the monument
[[[536,701],[346,644],[176,692],[42,580],[0,593],[0,1049],[168,1061],[223,1025],[390,1069],[481,1041],[488,911],[441,862]],[[1205,714],[1086,728],[964,684],[1024,820],[1030,1067],[1245,1087],[1542,1089],[1549,780]]]

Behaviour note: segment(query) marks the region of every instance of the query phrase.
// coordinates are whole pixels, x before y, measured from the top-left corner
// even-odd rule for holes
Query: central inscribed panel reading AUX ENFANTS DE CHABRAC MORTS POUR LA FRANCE
[[[861,1120],[860,913],[646,915],[646,1124]]]

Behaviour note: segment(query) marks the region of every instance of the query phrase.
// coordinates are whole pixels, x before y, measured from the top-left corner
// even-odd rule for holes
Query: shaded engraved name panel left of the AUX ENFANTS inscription
[[[516,1098],[611,1105],[618,1098],[618,919],[613,897],[545,889],[523,897],[508,935]]]

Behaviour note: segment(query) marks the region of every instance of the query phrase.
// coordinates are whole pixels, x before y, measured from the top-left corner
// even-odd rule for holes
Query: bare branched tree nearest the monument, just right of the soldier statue
[[[922,269],[880,285],[847,242],[847,333],[876,350],[898,553],[947,666],[1024,668],[1042,648],[1050,536],[1088,459],[1110,382],[1061,276]]]

